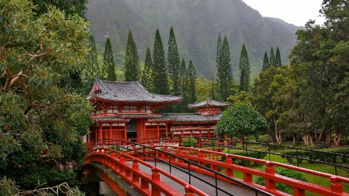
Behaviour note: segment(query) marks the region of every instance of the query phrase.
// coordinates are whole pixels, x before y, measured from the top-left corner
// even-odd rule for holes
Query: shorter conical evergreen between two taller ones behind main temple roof
[[[145,89],[153,91],[153,80],[151,78],[151,72],[153,67],[153,60],[151,59],[151,52],[147,47],[147,53],[145,54],[144,68],[142,70],[141,82]]]

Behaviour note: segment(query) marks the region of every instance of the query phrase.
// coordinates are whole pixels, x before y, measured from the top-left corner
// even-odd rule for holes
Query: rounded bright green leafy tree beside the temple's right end
[[[250,103],[236,103],[223,112],[216,124],[216,133],[220,137],[239,137],[244,141],[267,127],[267,121]]]

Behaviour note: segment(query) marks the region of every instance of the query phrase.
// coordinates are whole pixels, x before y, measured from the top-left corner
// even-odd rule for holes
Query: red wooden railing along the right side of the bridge
[[[295,167],[293,165],[286,165],[283,163],[276,163],[268,160],[260,160],[256,158],[248,158],[244,156],[237,156],[229,153],[222,153],[218,151],[211,151],[205,149],[194,149],[191,147],[183,147],[183,146],[163,146],[165,151],[170,148],[172,153],[177,154],[183,158],[188,160],[198,160],[201,165],[209,165],[211,169],[218,170],[218,167],[225,168],[225,174],[228,176],[234,176],[234,171],[239,171],[244,174],[244,182],[249,183],[253,186],[261,188],[262,190],[266,190],[269,193],[273,193],[275,195],[283,195],[280,191],[276,190],[276,182],[283,183],[285,185],[292,186],[294,189],[294,195],[306,195],[306,191],[317,193],[320,195],[349,195],[348,193],[343,192],[343,184],[349,183],[349,179],[341,176],[336,176],[333,174],[327,174],[324,172],[316,172],[311,169],[304,169],[301,167]],[[222,161],[222,157],[225,158],[225,161]],[[265,165],[265,171],[261,171],[258,169],[252,169],[249,167],[244,167],[241,165],[233,164],[232,158],[238,158],[242,160],[249,160],[255,163],[260,163]],[[318,186],[312,183],[306,183],[304,181],[299,181],[295,179],[288,178],[286,176],[281,176],[279,174],[275,174],[274,167],[284,167],[288,169],[293,169],[299,172],[305,172],[308,174],[313,174],[318,177],[322,177],[328,179],[331,182],[330,188]],[[260,176],[265,179],[265,186],[260,186],[258,184],[253,183],[253,176]]]

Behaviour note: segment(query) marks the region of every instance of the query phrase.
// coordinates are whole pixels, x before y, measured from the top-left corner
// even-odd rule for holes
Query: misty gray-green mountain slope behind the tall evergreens
[[[156,29],[167,52],[170,27],[173,27],[181,57],[193,60],[196,70],[209,77],[216,73],[218,33],[227,36],[232,70],[239,76],[239,55],[245,43],[253,78],[262,67],[265,51],[279,46],[283,63],[296,43],[296,27],[283,20],[262,17],[241,0],[89,0],[86,17],[93,25],[91,32],[101,50],[105,37],[112,41],[114,59],[123,65],[128,30],[144,61],[147,47],[152,49]],[[103,52],[100,51],[101,54]]]

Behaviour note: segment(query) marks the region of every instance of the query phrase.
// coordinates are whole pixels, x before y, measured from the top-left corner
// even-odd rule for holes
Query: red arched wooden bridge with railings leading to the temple
[[[276,182],[293,187],[293,195],[346,195],[343,183],[349,179],[333,174],[267,160],[222,153],[217,149],[196,149],[174,143],[136,144],[102,140],[87,145],[82,174],[94,175],[117,195],[289,195],[276,190]],[[223,158],[225,157],[225,158]],[[223,159],[222,159],[223,158]],[[236,165],[232,158],[265,165],[265,171]],[[222,161],[224,160],[224,161]],[[275,174],[285,167],[330,181],[330,187]],[[225,174],[218,172],[225,170]],[[244,174],[243,179],[234,172]],[[265,179],[265,186],[253,183],[253,176]]]

